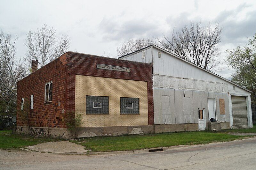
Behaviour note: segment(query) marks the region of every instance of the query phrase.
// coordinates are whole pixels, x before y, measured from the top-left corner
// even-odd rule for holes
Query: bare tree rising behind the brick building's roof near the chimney
[[[29,66],[32,60],[38,60],[39,67],[43,67],[68,50],[70,38],[68,34],[57,38],[56,30],[44,24],[41,29],[37,28],[36,32],[28,32],[25,45],[28,47],[25,60]]]

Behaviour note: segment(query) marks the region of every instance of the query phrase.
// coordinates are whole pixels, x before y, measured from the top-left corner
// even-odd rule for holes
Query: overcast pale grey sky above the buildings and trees
[[[175,26],[201,20],[223,27],[220,76],[230,78],[226,50],[247,44],[256,33],[255,1],[11,1],[1,0],[0,29],[19,36],[17,57],[23,58],[26,33],[45,24],[71,38],[70,51],[110,56],[123,41],[169,35]]]

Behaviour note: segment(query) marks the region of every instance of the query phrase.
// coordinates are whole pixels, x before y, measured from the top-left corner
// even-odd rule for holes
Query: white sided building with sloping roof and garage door
[[[251,91],[244,87],[156,45],[119,59],[153,64],[155,126],[205,130],[216,118],[220,129],[252,128]]]

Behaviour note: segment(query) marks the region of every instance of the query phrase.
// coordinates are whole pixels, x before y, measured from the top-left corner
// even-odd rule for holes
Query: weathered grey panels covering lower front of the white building
[[[199,108],[205,109],[205,119],[209,122],[208,98],[215,99],[217,120],[230,122],[229,107],[225,107],[225,115],[220,115],[219,105],[219,99],[224,99],[228,106],[228,93],[154,87],[155,124],[198,123]]]

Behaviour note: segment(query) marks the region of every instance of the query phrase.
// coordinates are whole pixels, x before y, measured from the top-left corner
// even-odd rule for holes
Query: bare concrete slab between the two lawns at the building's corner
[[[68,142],[46,142],[42,144],[37,144],[34,146],[28,146],[28,149],[37,152],[47,152],[47,153],[86,153],[87,150],[84,150],[84,146]]]

